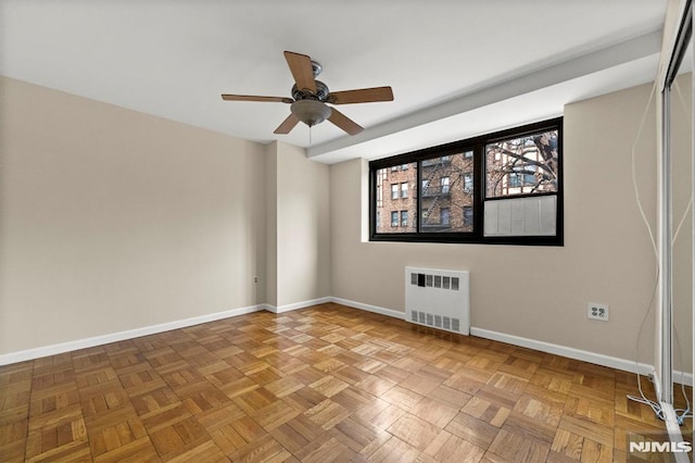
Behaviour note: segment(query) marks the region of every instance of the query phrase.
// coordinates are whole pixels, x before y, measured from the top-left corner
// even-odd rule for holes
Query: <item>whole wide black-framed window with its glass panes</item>
[[[561,140],[560,117],[370,162],[370,239],[561,246]]]

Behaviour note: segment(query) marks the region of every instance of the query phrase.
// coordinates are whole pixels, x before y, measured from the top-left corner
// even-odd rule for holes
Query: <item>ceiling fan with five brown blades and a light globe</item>
[[[296,124],[303,122],[309,127],[328,120],[350,135],[356,135],[363,128],[350,117],[330,104],[370,103],[375,101],[393,101],[391,87],[362,88],[357,90],[330,91],[328,86],[316,76],[323,67],[306,54],[285,52],[285,59],[294,77],[292,98],[257,97],[252,95],[224,93],[225,101],[268,101],[288,103],[290,115],[275,129],[274,134],[289,134]]]

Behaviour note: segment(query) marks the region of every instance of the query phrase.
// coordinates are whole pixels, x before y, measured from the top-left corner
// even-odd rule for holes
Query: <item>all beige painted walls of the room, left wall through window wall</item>
[[[632,359],[655,281],[630,168],[648,86],[566,108],[561,248],[367,242],[363,160],[329,167],[13,79],[0,91],[0,354],[263,302],[403,311],[403,267],[416,265],[471,272],[476,327]],[[652,224],[654,127],[650,112],[635,151]],[[610,304],[610,322],[586,320],[590,301]],[[679,337],[692,342],[687,316]],[[650,326],[652,314],[647,363]]]

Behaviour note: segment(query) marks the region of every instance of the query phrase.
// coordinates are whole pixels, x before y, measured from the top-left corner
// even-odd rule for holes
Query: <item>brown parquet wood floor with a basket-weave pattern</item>
[[[664,429],[628,393],[632,374],[328,303],[2,366],[0,461],[619,462]]]

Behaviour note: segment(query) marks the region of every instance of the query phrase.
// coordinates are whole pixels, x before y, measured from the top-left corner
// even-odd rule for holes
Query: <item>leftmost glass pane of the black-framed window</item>
[[[399,164],[376,171],[375,212],[382,220],[376,223],[377,234],[416,233],[417,163]],[[386,192],[384,192],[386,189]]]

